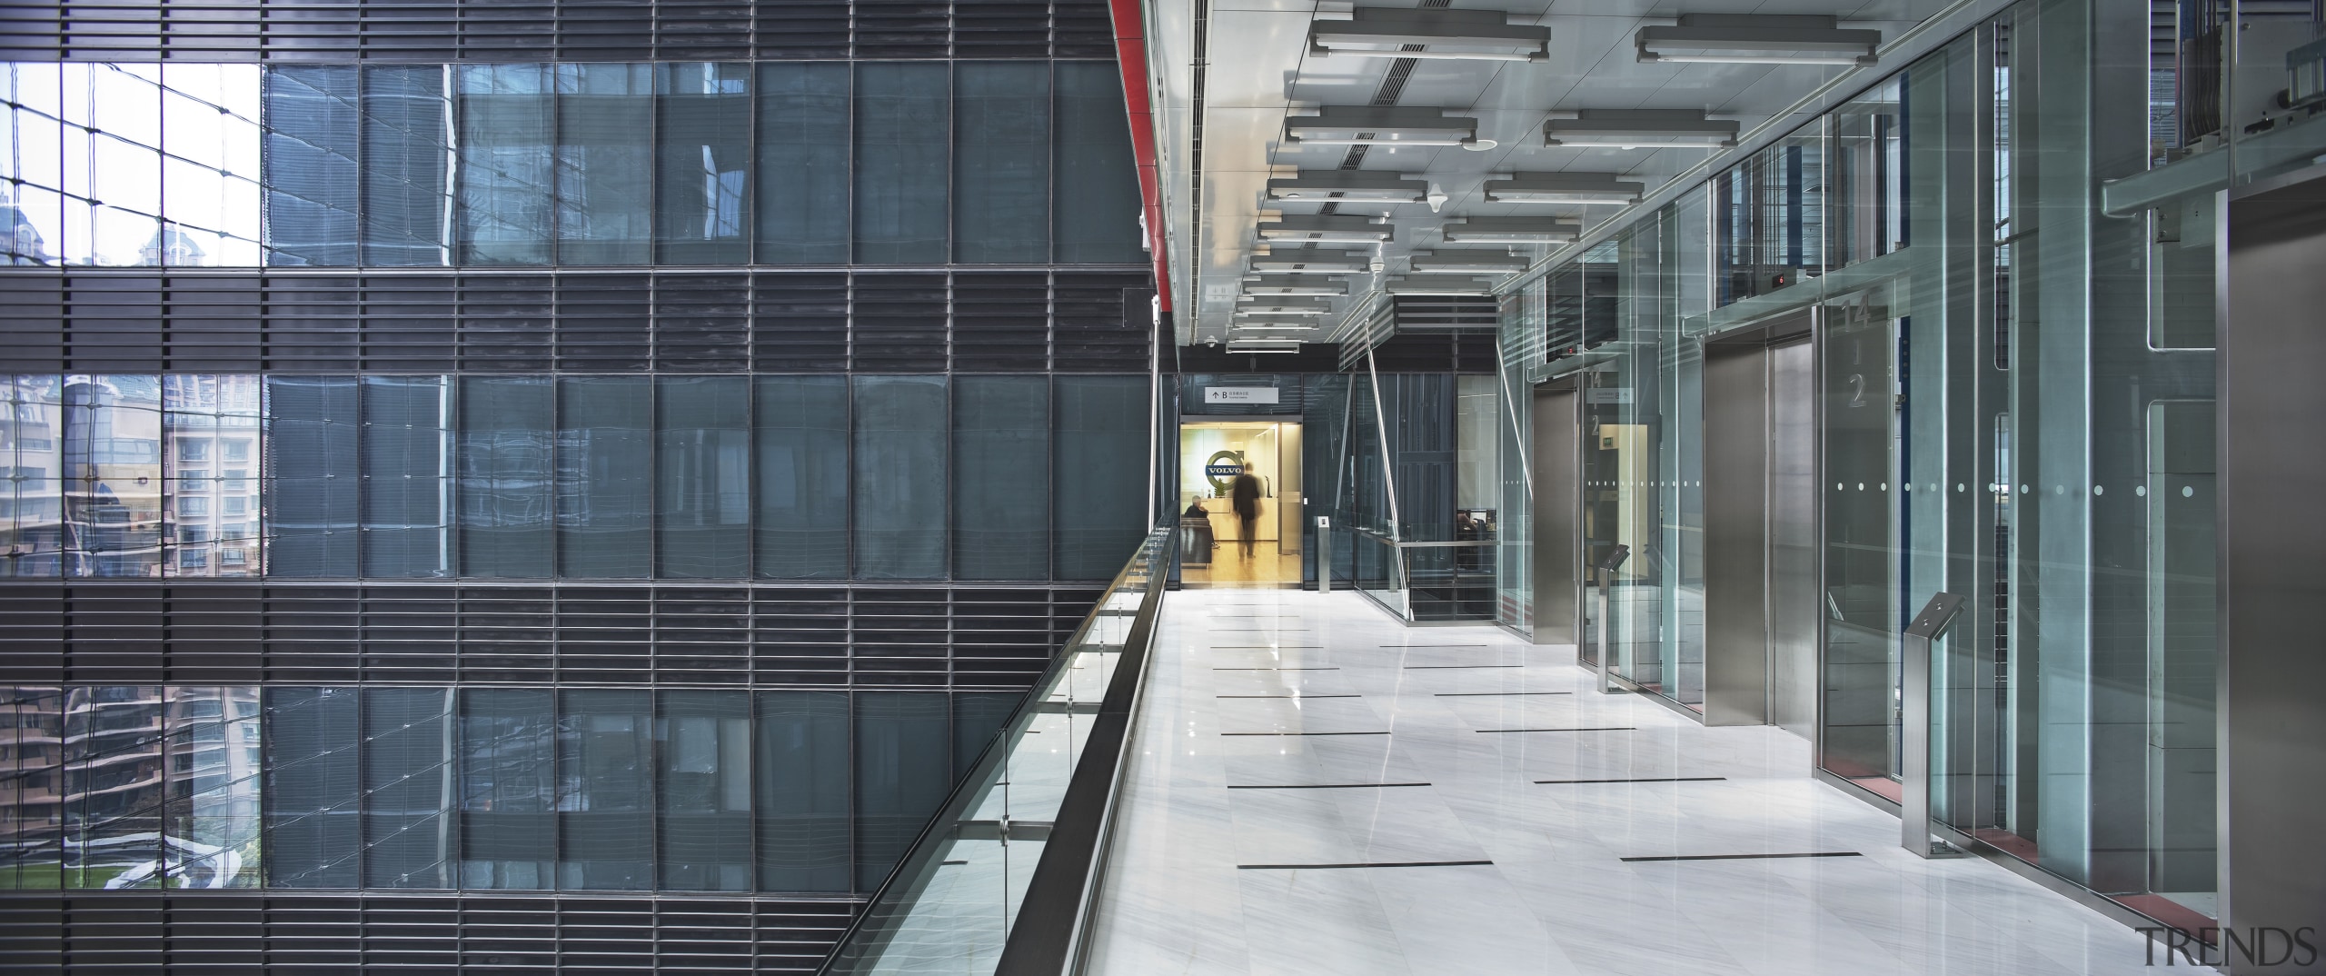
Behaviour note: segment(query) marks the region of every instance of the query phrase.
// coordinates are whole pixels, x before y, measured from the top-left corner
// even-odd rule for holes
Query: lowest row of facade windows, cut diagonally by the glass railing
[[[0,688],[0,888],[868,892],[1016,699]]]

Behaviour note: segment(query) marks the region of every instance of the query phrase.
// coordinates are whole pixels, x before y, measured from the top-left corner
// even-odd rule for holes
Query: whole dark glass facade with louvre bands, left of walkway
[[[1121,72],[1037,21],[0,65],[7,941],[812,969],[1149,518]]]

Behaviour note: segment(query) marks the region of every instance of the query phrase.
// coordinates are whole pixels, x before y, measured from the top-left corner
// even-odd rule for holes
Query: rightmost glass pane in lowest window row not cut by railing
[[[758,888],[844,892],[851,885],[849,695],[758,692]]]

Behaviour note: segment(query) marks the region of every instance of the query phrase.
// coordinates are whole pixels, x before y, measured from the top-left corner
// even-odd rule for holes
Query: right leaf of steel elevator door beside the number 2
[[[1817,372],[1810,339],[1768,351],[1768,720],[1817,732]]]

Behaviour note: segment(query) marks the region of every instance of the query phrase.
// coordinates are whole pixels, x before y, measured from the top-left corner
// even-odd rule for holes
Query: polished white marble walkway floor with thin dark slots
[[[1598,695],[1568,646],[1184,590],[1144,695],[1100,974],[2147,971],[2110,918],[1900,851],[1800,737]]]

